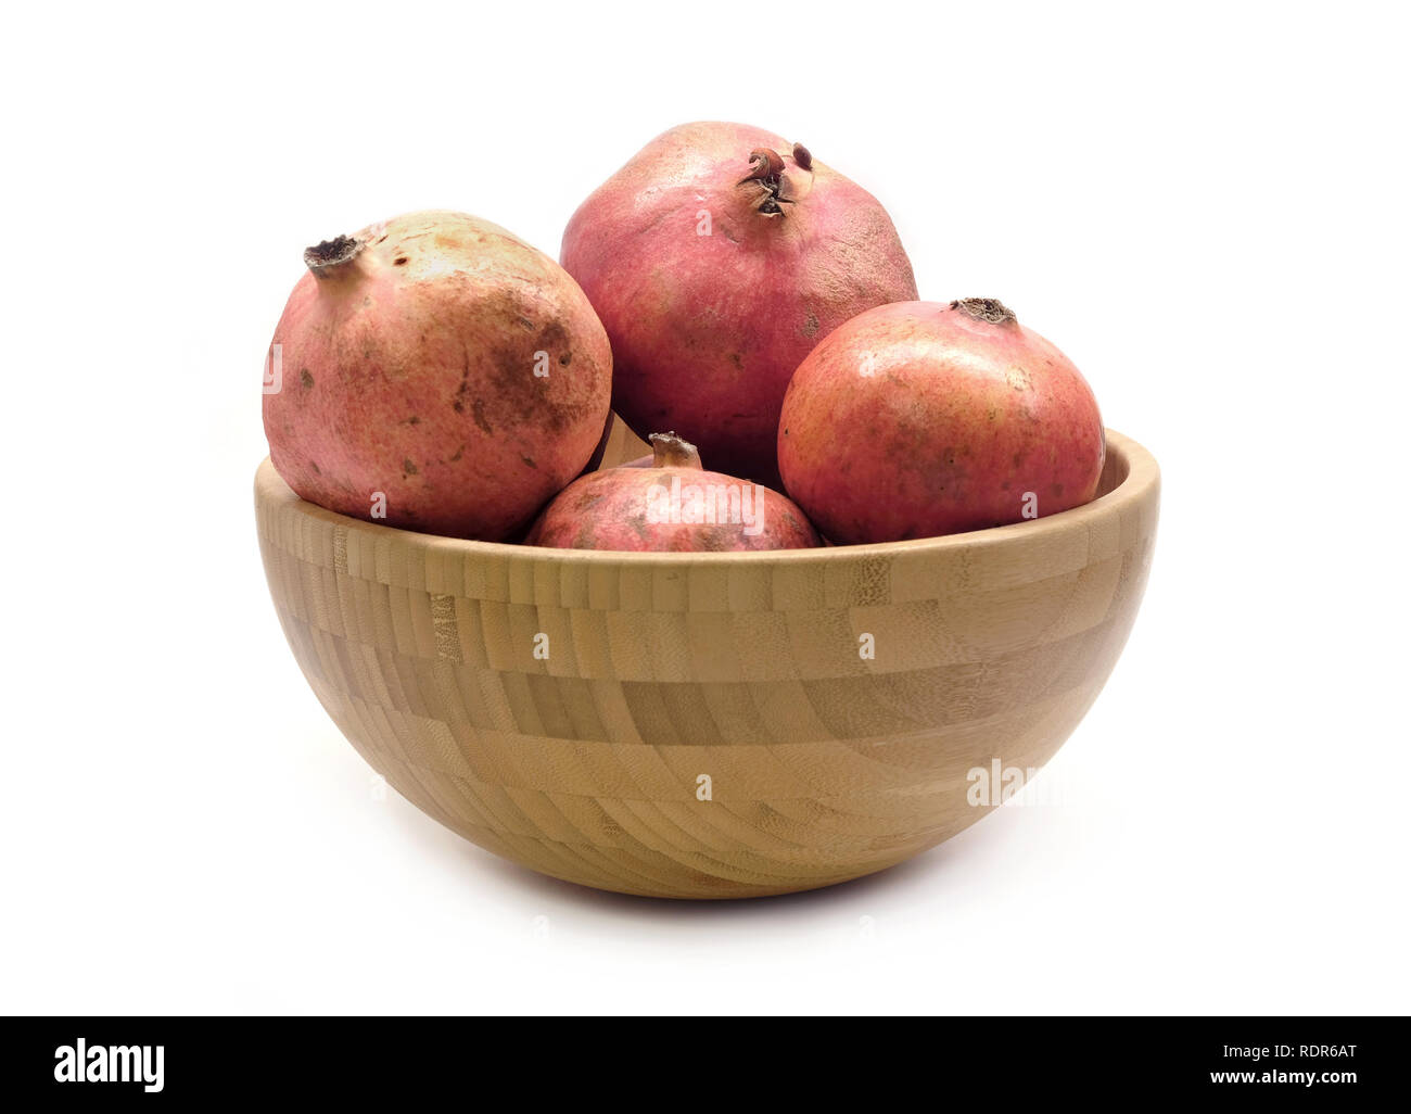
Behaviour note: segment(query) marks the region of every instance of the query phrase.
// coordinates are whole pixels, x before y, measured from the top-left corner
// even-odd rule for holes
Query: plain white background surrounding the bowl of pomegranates
[[[1060,10],[1061,7],[1061,10]],[[10,7],[6,1012],[1404,1012],[1404,8]],[[804,141],[1164,472],[1106,692],[1009,806],[745,904],[528,874],[391,793],[255,548],[305,244],[556,254],[676,123]],[[546,918],[542,921],[539,918]]]

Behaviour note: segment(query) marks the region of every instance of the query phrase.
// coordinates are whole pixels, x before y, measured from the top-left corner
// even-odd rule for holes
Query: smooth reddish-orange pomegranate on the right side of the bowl
[[[1078,369],[993,299],[859,315],[800,364],[779,421],[790,497],[840,544],[1078,507],[1106,442]]]

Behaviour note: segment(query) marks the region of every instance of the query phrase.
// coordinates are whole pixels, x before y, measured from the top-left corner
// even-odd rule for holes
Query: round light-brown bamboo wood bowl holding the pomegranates
[[[1158,489],[1109,431],[1094,503],[888,545],[436,538],[303,503],[268,460],[255,511],[299,668],[398,792],[556,878],[742,898],[895,866],[998,803],[971,771],[1043,765],[1126,642]]]

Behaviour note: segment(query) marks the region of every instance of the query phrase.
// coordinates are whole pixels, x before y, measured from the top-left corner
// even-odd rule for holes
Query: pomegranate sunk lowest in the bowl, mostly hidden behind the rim
[[[701,467],[696,446],[652,433],[652,456],[569,484],[526,545],[557,549],[807,549],[820,545],[803,511],[768,487]]]

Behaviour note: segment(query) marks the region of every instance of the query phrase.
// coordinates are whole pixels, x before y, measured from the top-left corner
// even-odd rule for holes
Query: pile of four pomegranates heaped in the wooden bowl
[[[917,301],[886,210],[801,144],[673,128],[560,257],[453,212],[308,248],[265,373],[289,487],[405,529],[618,551],[928,538],[1096,494],[1078,369],[995,299]],[[594,472],[614,412],[653,456]]]

